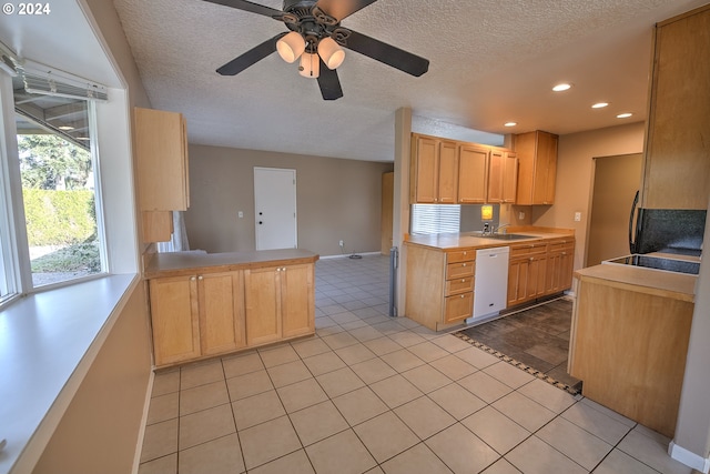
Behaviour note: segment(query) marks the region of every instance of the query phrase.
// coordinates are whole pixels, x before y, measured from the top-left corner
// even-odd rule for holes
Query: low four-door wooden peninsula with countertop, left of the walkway
[[[317,260],[298,249],[154,254],[144,278],[155,365],[314,334]]]

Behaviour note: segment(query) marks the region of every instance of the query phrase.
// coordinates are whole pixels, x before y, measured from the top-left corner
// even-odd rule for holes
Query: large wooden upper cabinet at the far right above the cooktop
[[[710,6],[657,26],[641,196],[645,208],[708,208],[709,43]]]

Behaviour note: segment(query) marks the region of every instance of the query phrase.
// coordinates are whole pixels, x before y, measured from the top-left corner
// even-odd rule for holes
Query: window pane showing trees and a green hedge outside
[[[32,285],[103,271],[91,103],[16,90],[17,140]]]

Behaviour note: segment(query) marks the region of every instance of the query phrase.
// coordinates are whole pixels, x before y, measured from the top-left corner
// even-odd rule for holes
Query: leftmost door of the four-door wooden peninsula
[[[154,279],[149,284],[155,365],[199,357],[196,278]]]

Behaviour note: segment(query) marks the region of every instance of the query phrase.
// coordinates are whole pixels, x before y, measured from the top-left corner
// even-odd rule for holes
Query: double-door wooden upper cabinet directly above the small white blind
[[[458,184],[456,142],[412,135],[410,202],[454,204]]]

